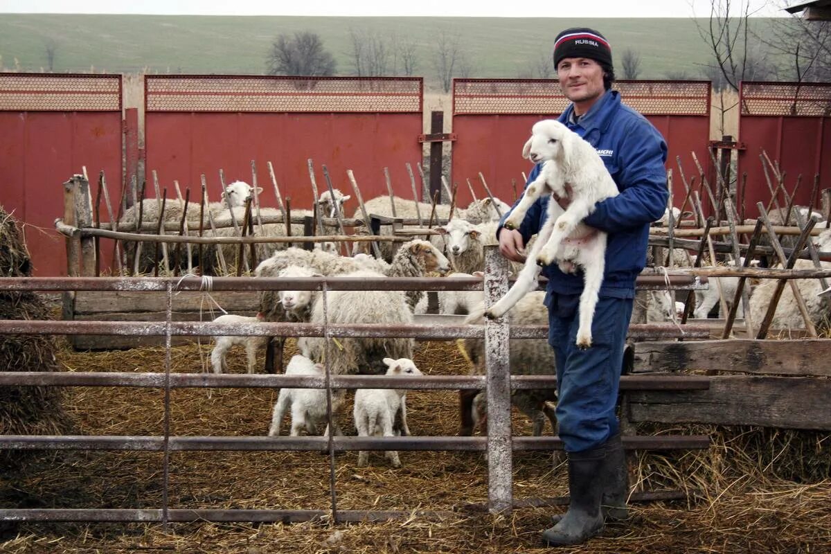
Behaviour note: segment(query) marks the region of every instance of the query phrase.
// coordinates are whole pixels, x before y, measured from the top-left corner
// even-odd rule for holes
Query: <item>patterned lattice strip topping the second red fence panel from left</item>
[[[419,112],[421,77],[146,76],[147,111]]]

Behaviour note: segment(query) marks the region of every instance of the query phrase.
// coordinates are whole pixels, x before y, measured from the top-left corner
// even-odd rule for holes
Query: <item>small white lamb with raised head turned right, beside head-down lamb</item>
[[[409,358],[384,358],[387,366],[386,375],[422,375]],[[355,391],[355,427],[359,437],[392,437],[396,414],[401,409],[401,429],[410,434],[406,424],[406,389],[358,389]],[[393,468],[401,468],[401,460],[396,450],[387,450],[385,457]],[[358,467],[363,468],[369,462],[369,452],[358,453]]]

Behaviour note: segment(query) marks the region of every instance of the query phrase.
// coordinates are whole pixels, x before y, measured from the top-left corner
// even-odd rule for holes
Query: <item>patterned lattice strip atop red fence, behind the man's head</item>
[[[710,115],[710,81],[616,81],[643,115]],[[553,79],[455,79],[454,115],[560,114],[568,99]]]

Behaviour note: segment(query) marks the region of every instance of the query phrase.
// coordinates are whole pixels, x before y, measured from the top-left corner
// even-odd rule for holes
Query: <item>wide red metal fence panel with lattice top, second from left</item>
[[[352,169],[364,199],[386,194],[388,167],[393,190],[409,198],[407,163],[420,187],[422,91],[420,77],[146,76],[147,178],[155,169],[169,194],[176,179],[194,198],[205,174],[209,198],[217,200],[219,170],[226,183],[251,183],[254,160],[260,202],[276,206],[270,161],[283,197],[309,208],[312,159],[320,193],[327,187],[322,164],[345,194],[352,194]],[[356,208],[354,195],[346,205]]]

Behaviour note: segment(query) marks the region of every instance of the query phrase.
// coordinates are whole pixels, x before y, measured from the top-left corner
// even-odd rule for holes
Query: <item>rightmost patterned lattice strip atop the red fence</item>
[[[741,115],[831,115],[831,84],[743,82]]]

